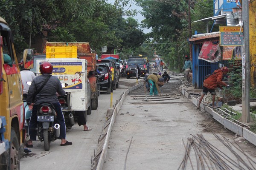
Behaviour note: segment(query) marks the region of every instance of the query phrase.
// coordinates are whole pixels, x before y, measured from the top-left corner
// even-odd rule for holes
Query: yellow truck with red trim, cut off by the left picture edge
[[[26,51],[29,54],[30,51]],[[23,88],[12,31],[0,17],[0,116],[6,119],[6,151],[0,155],[1,170],[19,170],[25,139]],[[3,122],[2,122],[3,123]]]

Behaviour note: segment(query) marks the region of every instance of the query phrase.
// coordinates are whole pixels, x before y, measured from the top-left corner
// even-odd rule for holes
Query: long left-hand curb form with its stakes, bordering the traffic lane
[[[124,94],[122,94],[122,96],[119,99],[119,102],[116,104],[116,107],[113,109],[113,113],[112,115],[109,117],[108,121],[105,122],[105,124],[107,124],[105,126],[105,128],[103,128],[102,130],[102,137],[99,137],[99,144],[98,144],[98,149],[96,152],[96,155],[94,156],[92,165],[90,170],[102,170],[104,161],[106,159],[107,156],[107,152],[108,152],[108,143],[109,143],[109,139],[110,139],[110,135],[111,135],[111,129],[113,127],[113,124],[115,122],[115,118],[116,118],[116,114],[118,113],[118,111],[120,110],[123,101],[125,100],[125,97],[133,90],[139,88],[140,86],[142,86],[144,83],[141,82],[138,85],[135,85],[131,88],[128,88]],[[110,120],[110,121],[109,121]],[[108,128],[106,128],[108,127]],[[103,140],[102,140],[103,139]],[[97,155],[98,153],[98,155]]]

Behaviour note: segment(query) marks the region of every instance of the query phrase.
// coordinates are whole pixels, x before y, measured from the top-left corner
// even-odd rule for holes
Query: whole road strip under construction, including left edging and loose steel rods
[[[255,145],[216,121],[214,108],[196,110],[200,90],[190,96],[181,79],[158,96],[142,81],[125,91],[108,110],[91,170],[256,169]]]

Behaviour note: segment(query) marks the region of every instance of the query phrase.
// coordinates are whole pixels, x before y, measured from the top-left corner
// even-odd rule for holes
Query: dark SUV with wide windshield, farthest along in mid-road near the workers
[[[146,63],[143,58],[131,58],[126,63],[126,78],[136,77],[137,66],[139,66],[139,77],[147,73]]]

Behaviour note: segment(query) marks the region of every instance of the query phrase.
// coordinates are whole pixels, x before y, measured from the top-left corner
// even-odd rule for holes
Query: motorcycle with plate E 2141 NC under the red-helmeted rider
[[[60,125],[56,123],[57,114],[54,106],[49,102],[43,102],[38,106],[37,111],[38,126],[37,136],[44,142],[44,150],[50,150],[50,142],[55,141],[60,136]]]

